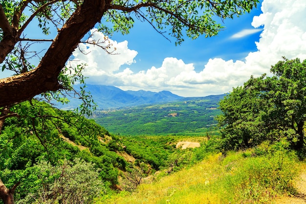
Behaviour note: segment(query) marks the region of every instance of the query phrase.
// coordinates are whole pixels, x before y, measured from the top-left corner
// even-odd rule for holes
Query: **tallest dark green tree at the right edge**
[[[273,77],[265,79],[265,98],[273,106],[265,117],[272,128],[282,131],[296,150],[304,149],[306,122],[306,60],[284,58],[271,67]]]

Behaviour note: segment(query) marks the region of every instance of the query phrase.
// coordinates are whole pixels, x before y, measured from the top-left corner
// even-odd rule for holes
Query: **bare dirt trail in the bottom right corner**
[[[284,196],[276,199],[276,204],[306,204],[306,169],[303,169],[299,180],[297,181],[296,188],[298,195],[294,197]]]

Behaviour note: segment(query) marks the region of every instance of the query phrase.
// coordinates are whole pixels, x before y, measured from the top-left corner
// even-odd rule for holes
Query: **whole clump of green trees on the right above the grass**
[[[306,60],[284,58],[270,71],[273,76],[251,77],[220,101],[223,149],[285,137],[292,148],[304,150]]]

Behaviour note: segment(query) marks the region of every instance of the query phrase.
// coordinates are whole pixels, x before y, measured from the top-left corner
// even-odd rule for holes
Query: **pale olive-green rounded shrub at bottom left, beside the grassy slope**
[[[73,163],[65,159],[58,166],[41,161],[31,167],[37,173],[36,181],[33,181],[37,191],[17,204],[28,204],[30,201],[33,204],[90,204],[93,198],[105,193],[99,169],[94,166],[80,159],[75,159]]]

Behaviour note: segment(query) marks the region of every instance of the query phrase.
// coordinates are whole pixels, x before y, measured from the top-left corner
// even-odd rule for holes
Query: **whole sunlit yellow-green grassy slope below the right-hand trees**
[[[143,183],[135,192],[100,198],[96,204],[272,204],[294,194],[299,162],[278,151],[255,156],[253,150],[214,154],[191,168]]]

